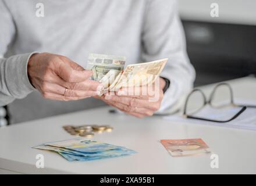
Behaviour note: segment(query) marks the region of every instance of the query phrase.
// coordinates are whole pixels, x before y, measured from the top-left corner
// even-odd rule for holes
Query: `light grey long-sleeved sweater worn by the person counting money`
[[[0,0],[0,106],[35,91],[27,76],[34,51],[83,67],[90,52],[126,56],[126,65],[169,58],[161,76],[171,86],[158,113],[179,108],[194,81],[174,0]]]

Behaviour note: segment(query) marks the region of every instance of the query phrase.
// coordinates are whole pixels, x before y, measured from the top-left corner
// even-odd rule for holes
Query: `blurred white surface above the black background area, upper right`
[[[256,25],[256,0],[177,0],[185,20]],[[218,3],[219,17],[210,16],[211,3]]]

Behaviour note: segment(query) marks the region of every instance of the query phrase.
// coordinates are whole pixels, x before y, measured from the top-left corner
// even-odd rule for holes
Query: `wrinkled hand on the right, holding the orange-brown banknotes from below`
[[[99,99],[132,116],[139,118],[152,116],[160,108],[163,99],[165,80],[159,78],[158,82],[158,85],[140,87],[137,91],[129,92],[129,88],[122,88],[114,95],[107,94]],[[151,91],[144,94],[143,89],[145,90],[145,88]]]

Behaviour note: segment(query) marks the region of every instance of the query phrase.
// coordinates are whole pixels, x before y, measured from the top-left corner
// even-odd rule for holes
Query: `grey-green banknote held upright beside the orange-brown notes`
[[[92,79],[99,81],[109,70],[117,70],[120,73],[125,66],[125,60],[125,56],[90,53],[88,56],[87,69],[93,70]]]

